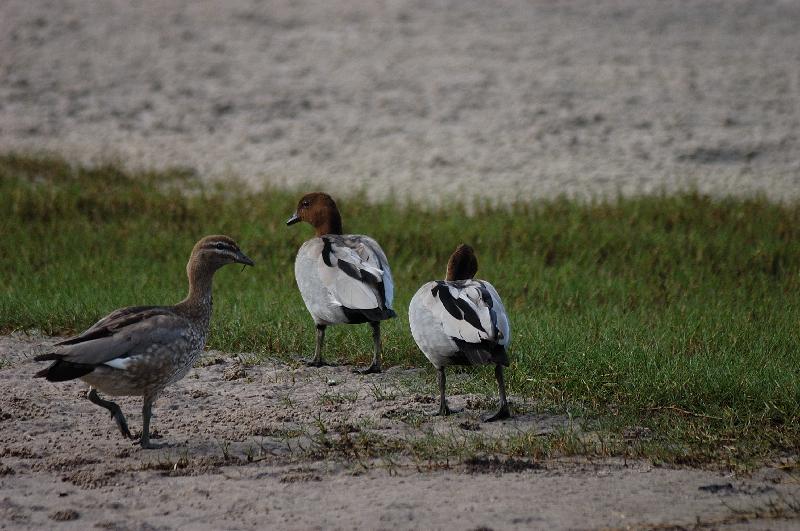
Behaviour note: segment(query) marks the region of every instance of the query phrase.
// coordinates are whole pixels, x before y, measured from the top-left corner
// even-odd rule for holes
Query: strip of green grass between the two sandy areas
[[[298,198],[203,186],[181,170],[130,174],[2,156],[0,329],[67,334],[121,306],[176,302],[194,242],[225,233],[256,267],[217,274],[210,347],[255,359],[310,356],[313,325],[293,262],[311,228],[284,225]],[[374,236],[392,265],[399,318],[384,326],[387,365],[427,365],[407,305],[466,242],[511,316],[514,395],[612,434],[648,427],[655,435],[634,445],[642,455],[706,462],[796,453],[800,204],[686,193],[478,204],[469,215],[459,206],[338,202],[345,230]],[[326,354],[366,363],[370,343],[368,327],[334,327]],[[470,373],[464,390],[495,394],[491,371]],[[432,371],[427,379],[434,393]]]

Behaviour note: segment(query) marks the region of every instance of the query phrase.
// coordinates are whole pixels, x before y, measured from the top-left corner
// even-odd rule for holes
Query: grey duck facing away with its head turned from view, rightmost
[[[511,330],[503,302],[494,286],[474,280],[478,259],[468,245],[459,245],[447,263],[445,280],[424,284],[408,306],[411,335],[438,371],[439,412],[452,413],[444,395],[444,368],[448,365],[495,365],[500,409],[485,422],[511,417],[506,400],[503,367]]]

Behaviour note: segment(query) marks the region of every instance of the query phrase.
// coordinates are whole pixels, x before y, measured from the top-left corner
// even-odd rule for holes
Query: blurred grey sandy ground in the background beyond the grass
[[[499,201],[800,196],[800,3],[4,0],[0,151]]]

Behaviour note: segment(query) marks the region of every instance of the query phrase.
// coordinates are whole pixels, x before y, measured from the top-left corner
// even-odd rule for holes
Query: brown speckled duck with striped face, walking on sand
[[[189,372],[203,352],[211,321],[211,282],[225,264],[252,266],[227,236],[206,236],[195,244],[186,273],[189,294],[175,306],[133,306],[111,312],[82,334],[56,343],[36,361],[53,363],[36,378],[64,382],[80,378],[89,384],[86,397],[106,408],[122,435],[133,439],[120,407],[109,395],[142,396],[142,448],[150,442],[150,416],[161,391]]]

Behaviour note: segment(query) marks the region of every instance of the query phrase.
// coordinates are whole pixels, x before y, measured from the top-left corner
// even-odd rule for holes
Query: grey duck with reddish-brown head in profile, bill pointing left
[[[346,323],[369,323],[375,350],[372,365],[358,371],[381,372],[381,321],[396,317],[394,287],[386,255],[369,236],[343,234],[342,217],[328,194],[306,194],[287,221],[306,221],[316,235],[297,252],[294,274],[303,302],[317,326],[317,345],[309,365],[319,367],[325,328]]]

